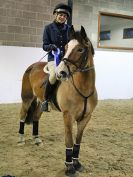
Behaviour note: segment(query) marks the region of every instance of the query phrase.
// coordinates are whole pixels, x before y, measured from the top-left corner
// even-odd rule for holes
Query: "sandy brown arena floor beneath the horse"
[[[65,177],[62,114],[41,117],[43,146],[34,144],[31,125],[26,144],[18,146],[19,112],[20,104],[0,105],[0,177]],[[84,171],[76,177],[133,176],[133,99],[99,101],[84,131],[80,161]]]

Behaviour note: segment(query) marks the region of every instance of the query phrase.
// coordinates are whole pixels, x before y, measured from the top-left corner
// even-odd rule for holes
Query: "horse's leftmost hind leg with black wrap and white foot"
[[[21,111],[20,111],[20,125],[19,125],[19,144],[24,144],[25,143],[25,138],[24,138],[24,126],[25,126],[25,119],[29,110],[29,107],[31,105],[32,100],[27,99],[22,102],[21,105]]]

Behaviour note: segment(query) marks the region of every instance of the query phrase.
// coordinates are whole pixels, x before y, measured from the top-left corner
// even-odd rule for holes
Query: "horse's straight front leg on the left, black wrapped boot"
[[[65,127],[65,144],[66,144],[66,171],[67,176],[75,173],[73,166],[73,137],[72,137],[72,118],[68,111],[63,113]]]

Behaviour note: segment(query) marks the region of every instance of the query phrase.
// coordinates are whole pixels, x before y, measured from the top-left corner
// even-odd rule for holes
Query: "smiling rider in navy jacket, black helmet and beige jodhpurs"
[[[60,3],[56,5],[53,11],[55,19],[52,23],[45,26],[43,33],[43,50],[48,53],[48,70],[49,70],[49,79],[46,83],[45,89],[45,101],[42,103],[41,110],[48,111],[48,99],[49,95],[52,92],[53,85],[56,82],[55,74],[55,63],[54,56],[52,51],[57,51],[57,48],[60,49],[59,60],[64,56],[65,45],[68,42],[68,31],[70,26],[66,24],[68,18],[72,13],[70,6]]]

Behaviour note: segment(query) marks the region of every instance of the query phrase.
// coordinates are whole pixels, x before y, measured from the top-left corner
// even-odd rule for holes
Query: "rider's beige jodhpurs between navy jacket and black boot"
[[[49,82],[53,85],[56,82],[56,73],[55,73],[55,62],[48,62],[48,70],[49,70]]]

